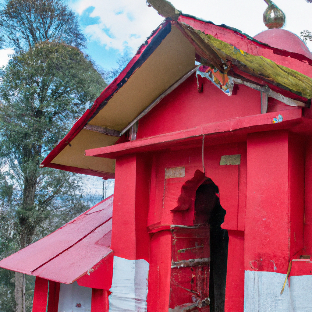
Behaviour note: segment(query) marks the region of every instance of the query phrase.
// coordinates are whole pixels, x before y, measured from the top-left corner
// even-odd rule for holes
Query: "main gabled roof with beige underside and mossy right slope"
[[[179,13],[152,33],[41,165],[113,178],[115,160],[85,156],[85,150],[117,144],[120,132],[192,73],[195,54],[235,83],[252,83],[290,99],[292,105],[310,107],[308,54],[271,47],[237,29]]]

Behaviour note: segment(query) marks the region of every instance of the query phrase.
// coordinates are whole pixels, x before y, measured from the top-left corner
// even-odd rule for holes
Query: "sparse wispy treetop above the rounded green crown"
[[[32,50],[43,41],[85,47],[78,18],[61,0],[7,0],[0,16],[2,32],[17,50]]]

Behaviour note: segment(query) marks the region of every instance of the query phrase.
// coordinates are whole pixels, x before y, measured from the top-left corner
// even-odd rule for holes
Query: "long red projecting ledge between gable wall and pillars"
[[[278,115],[282,122],[273,123]],[[204,124],[183,131],[160,134],[150,138],[138,139],[112,146],[86,150],[86,155],[99,158],[116,159],[135,153],[154,151],[174,151],[179,149],[194,149],[205,146],[246,141],[247,134],[260,131],[293,129],[298,124],[312,126],[312,119],[302,115],[302,108],[283,110],[267,114],[240,117],[211,124]]]

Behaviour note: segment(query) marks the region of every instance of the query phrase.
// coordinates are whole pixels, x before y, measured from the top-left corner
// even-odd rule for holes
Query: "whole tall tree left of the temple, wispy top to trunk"
[[[11,228],[3,237],[13,250],[40,238],[38,230],[49,226],[49,218],[57,220],[56,209],[68,212],[62,200],[73,211],[86,209],[74,174],[39,164],[106,83],[79,50],[86,39],[62,1],[6,1],[0,27],[6,44],[15,46],[0,72],[0,159],[9,168],[0,205],[9,207],[2,221]],[[26,310],[26,283],[15,274],[17,312]]]

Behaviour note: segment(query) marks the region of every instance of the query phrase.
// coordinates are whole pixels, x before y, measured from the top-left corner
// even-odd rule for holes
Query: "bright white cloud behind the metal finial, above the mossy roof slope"
[[[265,30],[262,20],[267,5],[263,0],[172,0],[183,13],[238,28],[250,36]],[[312,3],[305,0],[274,0],[286,15],[285,29],[300,34],[304,29],[312,31]]]

